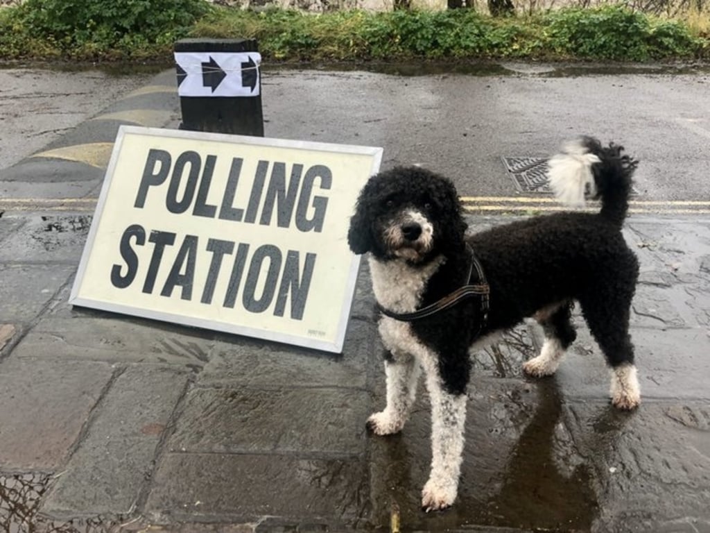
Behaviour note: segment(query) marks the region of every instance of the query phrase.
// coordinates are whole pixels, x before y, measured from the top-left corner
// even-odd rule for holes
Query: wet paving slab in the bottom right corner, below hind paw
[[[689,524],[707,530],[707,402],[647,402],[633,414],[604,404],[566,409],[574,440],[599,480],[599,530],[687,531]]]

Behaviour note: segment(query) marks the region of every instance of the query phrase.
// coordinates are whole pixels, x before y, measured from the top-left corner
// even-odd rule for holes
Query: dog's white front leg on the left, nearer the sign
[[[368,429],[376,435],[392,435],[402,431],[417,395],[420,373],[420,365],[413,355],[387,352],[387,407],[367,419]]]

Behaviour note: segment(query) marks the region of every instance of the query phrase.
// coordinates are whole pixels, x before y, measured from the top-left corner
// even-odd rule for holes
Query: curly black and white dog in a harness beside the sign
[[[531,376],[551,375],[576,333],[578,301],[611,367],[611,402],[634,409],[640,390],[628,335],[638,262],[621,235],[636,161],[623,148],[583,137],[550,160],[550,185],[565,203],[585,193],[601,210],[559,212],[464,237],[454,185],[422,168],[373,176],[359,195],[348,242],[369,252],[381,311],[387,406],[368,419],[377,435],[408,419],[423,370],[432,404],[432,466],[424,510],[457,497],[464,447],[466,386],[476,350],[534,317],[545,331]]]

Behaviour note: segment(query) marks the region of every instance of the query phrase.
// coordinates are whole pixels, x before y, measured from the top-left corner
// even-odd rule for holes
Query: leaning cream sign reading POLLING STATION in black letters
[[[342,350],[381,148],[121,126],[70,303]]]

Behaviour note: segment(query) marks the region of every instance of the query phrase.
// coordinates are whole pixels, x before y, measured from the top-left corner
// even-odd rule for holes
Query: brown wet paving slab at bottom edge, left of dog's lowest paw
[[[266,522],[271,531],[320,524],[339,531],[361,522],[367,495],[364,458],[168,453],[146,513],[158,523]]]

